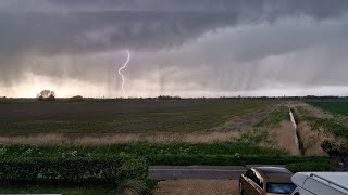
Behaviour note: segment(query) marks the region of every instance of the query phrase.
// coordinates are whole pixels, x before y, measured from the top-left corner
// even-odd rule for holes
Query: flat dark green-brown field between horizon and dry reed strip
[[[206,131],[272,104],[258,100],[0,104],[0,135]]]

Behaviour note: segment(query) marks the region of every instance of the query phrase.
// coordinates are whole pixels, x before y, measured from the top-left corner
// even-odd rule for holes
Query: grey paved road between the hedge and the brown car
[[[153,180],[236,180],[246,171],[239,166],[151,166],[149,177]]]

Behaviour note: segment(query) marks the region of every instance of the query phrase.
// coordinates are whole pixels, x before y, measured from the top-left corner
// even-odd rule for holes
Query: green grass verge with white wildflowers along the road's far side
[[[282,150],[253,146],[244,142],[216,143],[147,143],[135,142],[111,145],[2,145],[1,158],[57,157],[57,156],[281,156]]]

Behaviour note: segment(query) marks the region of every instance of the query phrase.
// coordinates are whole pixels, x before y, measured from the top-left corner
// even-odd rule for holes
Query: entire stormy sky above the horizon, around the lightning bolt
[[[1,0],[0,96],[348,95],[347,35],[347,0]]]

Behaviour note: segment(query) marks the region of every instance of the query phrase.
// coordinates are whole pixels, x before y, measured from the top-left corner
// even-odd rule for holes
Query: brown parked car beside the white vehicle
[[[241,195],[290,195],[296,185],[293,172],[281,167],[252,167],[239,178]]]

